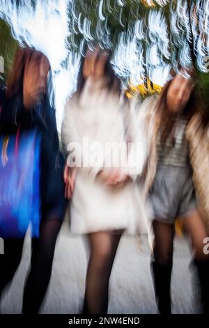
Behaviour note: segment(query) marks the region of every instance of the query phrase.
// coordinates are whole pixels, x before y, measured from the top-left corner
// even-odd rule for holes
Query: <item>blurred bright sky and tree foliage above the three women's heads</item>
[[[208,0],[0,0],[0,82],[17,44],[43,52],[52,66],[60,129],[86,44],[99,43],[111,51],[128,96],[159,93],[171,66],[196,68],[196,92],[208,107],[208,6]]]

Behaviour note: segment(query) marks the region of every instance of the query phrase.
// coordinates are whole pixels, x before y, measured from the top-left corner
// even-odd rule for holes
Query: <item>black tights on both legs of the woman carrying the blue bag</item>
[[[56,238],[62,222],[52,219],[40,225],[40,237],[32,239],[31,269],[24,288],[22,313],[36,314],[49,285]],[[12,280],[22,258],[24,239],[6,239],[0,257],[0,293]]]

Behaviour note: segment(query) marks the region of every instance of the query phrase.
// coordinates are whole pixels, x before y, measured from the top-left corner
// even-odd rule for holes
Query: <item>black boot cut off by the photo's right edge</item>
[[[199,277],[203,313],[209,314],[209,260],[194,260],[194,264]]]

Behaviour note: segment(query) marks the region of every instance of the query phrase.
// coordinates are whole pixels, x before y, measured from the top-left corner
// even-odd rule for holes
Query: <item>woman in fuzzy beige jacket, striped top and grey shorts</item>
[[[200,214],[203,209],[209,214],[208,195],[200,179],[208,175],[208,120],[200,108],[194,94],[194,79],[184,70],[173,74],[159,98],[151,97],[141,107],[148,131],[145,193],[149,193],[153,206],[152,271],[160,313],[171,313],[173,237],[177,217],[183,218],[192,238],[203,311],[209,311],[209,262],[208,255],[203,252],[207,230]]]

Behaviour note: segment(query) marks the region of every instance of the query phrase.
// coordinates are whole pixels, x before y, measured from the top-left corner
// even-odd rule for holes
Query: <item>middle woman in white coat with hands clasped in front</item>
[[[146,231],[144,207],[134,183],[137,171],[130,172],[127,163],[114,166],[111,156],[116,160],[119,156],[114,150],[93,153],[98,144],[101,149],[108,144],[127,145],[134,137],[130,108],[109,54],[99,47],[88,50],[77,93],[66,105],[62,126],[68,155],[64,179],[65,195],[71,198],[71,231],[87,234],[91,247],[84,313],[107,313],[109,277],[121,234],[124,230],[133,234]],[[111,161],[109,167],[107,160]]]

